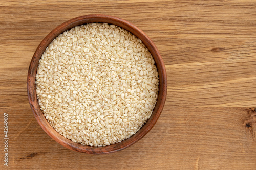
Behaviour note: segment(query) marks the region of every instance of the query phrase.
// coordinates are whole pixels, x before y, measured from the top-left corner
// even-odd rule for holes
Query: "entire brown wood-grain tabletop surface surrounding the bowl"
[[[256,1],[0,1],[0,169],[9,114],[9,169],[256,169]],[[38,125],[26,78],[40,41],[87,14],[134,23],[157,45],[168,96],[132,147],[87,155]]]

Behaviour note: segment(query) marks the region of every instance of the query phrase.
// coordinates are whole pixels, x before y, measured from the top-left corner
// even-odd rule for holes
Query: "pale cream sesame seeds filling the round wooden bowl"
[[[50,125],[73,142],[121,142],[153,112],[159,88],[154,63],[142,41],[122,28],[76,26],[53,40],[39,61],[39,106]]]

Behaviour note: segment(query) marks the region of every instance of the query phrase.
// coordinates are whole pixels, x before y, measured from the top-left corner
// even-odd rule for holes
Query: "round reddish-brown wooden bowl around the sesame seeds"
[[[158,74],[159,74],[158,99],[150,119],[148,119],[147,122],[141,127],[141,129],[136,134],[131,136],[129,139],[123,140],[120,143],[108,145],[106,147],[90,147],[87,145],[81,145],[79,143],[72,142],[71,140],[61,136],[47,122],[44,114],[42,114],[40,110],[37,96],[36,96],[35,76],[37,72],[37,67],[38,67],[38,63],[41,58],[41,55],[44,53],[48,45],[54,40],[54,38],[56,38],[59,34],[63,33],[64,31],[69,30],[75,26],[84,25],[86,23],[91,23],[91,22],[106,22],[106,23],[114,24],[136,35],[139,39],[142,40],[142,42],[146,45],[148,50],[150,50],[155,60]],[[127,22],[123,19],[120,19],[114,16],[85,15],[85,16],[73,18],[67,22],[62,23],[60,26],[56,27],[52,32],[50,32],[42,40],[42,42],[37,47],[29,66],[27,90],[28,90],[30,107],[34,113],[34,116],[37,122],[39,123],[39,125],[42,127],[42,129],[44,129],[44,131],[51,138],[53,138],[56,142],[60,143],[64,147],[74,151],[88,153],[88,154],[104,154],[104,153],[112,153],[112,152],[120,151],[131,146],[132,144],[139,141],[142,137],[144,137],[153,128],[164,107],[166,94],[167,94],[167,76],[166,76],[166,70],[163,63],[163,59],[159,51],[157,50],[156,45],[139,28],[137,28],[130,22]]]

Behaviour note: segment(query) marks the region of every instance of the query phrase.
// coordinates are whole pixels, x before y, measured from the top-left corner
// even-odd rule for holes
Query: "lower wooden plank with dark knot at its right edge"
[[[256,115],[254,109],[165,107],[155,127],[142,140],[108,155],[82,154],[62,147],[40,128],[30,109],[7,112],[10,167],[17,169],[62,169],[63,166],[67,169],[253,169],[256,166],[253,131],[256,122],[246,127],[251,120],[249,115]]]

